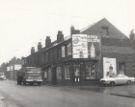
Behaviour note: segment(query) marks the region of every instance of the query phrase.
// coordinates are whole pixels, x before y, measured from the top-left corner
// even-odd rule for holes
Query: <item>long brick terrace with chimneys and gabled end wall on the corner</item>
[[[46,83],[91,84],[105,77],[109,68],[115,74],[135,76],[130,40],[105,18],[82,31],[71,27],[71,37],[66,40],[58,31],[56,41],[48,36],[45,47],[39,43],[37,48],[37,52],[31,48],[25,65],[41,67]]]

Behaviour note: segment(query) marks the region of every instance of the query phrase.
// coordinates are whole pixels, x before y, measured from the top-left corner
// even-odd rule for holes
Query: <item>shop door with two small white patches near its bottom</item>
[[[74,66],[74,83],[80,83],[80,66]]]

